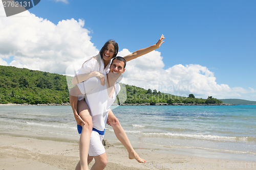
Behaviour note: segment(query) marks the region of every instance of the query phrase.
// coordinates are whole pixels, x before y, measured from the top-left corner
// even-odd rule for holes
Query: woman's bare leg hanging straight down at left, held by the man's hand
[[[90,145],[90,138],[93,128],[92,116],[87,103],[82,100],[78,101],[79,115],[82,117],[86,124],[82,124],[82,132],[79,140],[79,155],[81,170],[89,169],[88,167],[88,152]]]

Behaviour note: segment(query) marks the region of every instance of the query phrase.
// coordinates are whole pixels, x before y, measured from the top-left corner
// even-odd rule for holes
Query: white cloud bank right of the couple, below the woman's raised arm
[[[119,56],[128,54],[130,52],[127,49],[118,53]],[[129,61],[122,82],[181,96],[193,93],[197,98],[204,99],[208,96],[218,99],[242,98],[253,91],[217,84],[214,72],[198,64],[177,64],[164,69],[161,53],[157,51]]]

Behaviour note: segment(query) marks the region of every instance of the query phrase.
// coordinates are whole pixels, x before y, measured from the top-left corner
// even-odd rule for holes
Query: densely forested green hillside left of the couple
[[[66,76],[0,66],[0,103],[68,103]]]

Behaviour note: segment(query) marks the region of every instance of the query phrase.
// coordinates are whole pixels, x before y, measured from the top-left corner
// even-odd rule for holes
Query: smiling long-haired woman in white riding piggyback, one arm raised
[[[146,48],[143,48],[141,50],[135,51],[130,55],[124,56],[123,58],[126,61],[133,60],[137,57],[140,57],[144,54],[147,54],[149,52],[152,52],[159,48],[163,41],[164,36],[161,35],[158,42],[154,45],[148,46]],[[72,80],[72,84],[77,84],[83,81],[86,81],[87,79],[91,77],[97,77],[101,84],[105,84],[105,77],[104,75],[108,74],[110,70],[110,63],[111,59],[113,57],[116,57],[118,53],[118,44],[114,40],[107,41],[104,46],[101,48],[98,55],[95,57],[90,58],[86,62],[83,63],[82,67],[77,71],[75,77]],[[78,102],[77,102],[78,101]],[[76,119],[76,122],[78,125],[83,124],[83,138],[80,138],[79,141],[79,151],[80,151],[80,165],[81,168],[88,169],[88,151],[89,151],[89,143],[90,143],[90,136],[92,132],[92,117],[90,114],[90,109],[87,105],[87,103],[83,100],[83,98],[79,99],[76,96],[70,95],[70,104],[74,112],[74,116]],[[83,117],[80,117],[78,113],[83,113]],[[119,120],[116,118],[112,110],[109,111],[108,120],[110,121],[110,125],[113,127],[114,132],[117,136],[117,138],[121,141],[121,143],[124,145],[126,150],[129,152],[129,158],[130,159],[136,159],[138,162],[145,163],[144,159],[141,159],[138,154],[134,151],[129,139],[127,138],[124,130],[122,129]],[[81,144],[83,143],[83,144]],[[86,144],[84,144],[86,143]]]

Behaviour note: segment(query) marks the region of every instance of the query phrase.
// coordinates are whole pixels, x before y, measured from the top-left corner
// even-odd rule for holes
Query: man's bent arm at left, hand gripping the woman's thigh
[[[79,90],[78,86],[73,87],[69,92],[69,103],[72,107],[72,110],[76,119],[76,123],[81,126],[81,123],[85,124],[85,122],[78,115],[77,101],[78,101],[79,94],[81,94],[81,91]]]

